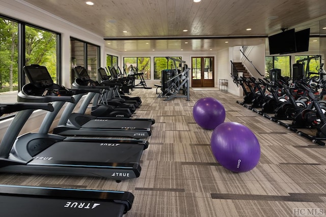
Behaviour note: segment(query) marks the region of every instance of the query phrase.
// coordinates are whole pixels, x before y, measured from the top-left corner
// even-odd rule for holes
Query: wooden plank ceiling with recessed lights
[[[80,0],[25,2],[103,37],[108,48],[119,52],[216,51],[261,44],[281,28],[311,27],[312,35],[326,31],[320,26],[326,18],[325,0],[93,0],[93,6]]]

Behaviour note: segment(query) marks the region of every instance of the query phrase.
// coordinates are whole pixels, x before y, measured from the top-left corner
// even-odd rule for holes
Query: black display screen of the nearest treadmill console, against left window
[[[53,84],[53,80],[45,67],[27,68],[25,70],[30,82],[47,86]]]

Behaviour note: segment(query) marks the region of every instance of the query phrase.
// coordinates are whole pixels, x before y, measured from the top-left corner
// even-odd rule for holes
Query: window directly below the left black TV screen
[[[290,56],[266,56],[265,77],[269,78],[271,69],[281,69],[281,76],[291,77],[291,59]]]

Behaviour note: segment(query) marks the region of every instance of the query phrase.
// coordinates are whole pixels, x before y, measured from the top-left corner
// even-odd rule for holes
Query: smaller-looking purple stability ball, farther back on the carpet
[[[220,101],[212,97],[206,97],[195,103],[193,117],[200,127],[213,130],[224,122],[225,109]]]

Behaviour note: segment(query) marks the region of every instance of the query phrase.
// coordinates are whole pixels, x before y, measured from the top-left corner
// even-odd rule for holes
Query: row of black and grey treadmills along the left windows
[[[0,143],[0,172],[99,176],[116,182],[140,176],[140,159],[148,147],[145,138],[151,135],[151,126],[155,120],[85,114],[89,98],[93,99],[92,111],[99,107],[103,107],[103,111],[110,110],[113,106],[107,102],[112,100],[112,92],[121,83],[92,81],[85,68],[76,67],[74,71],[77,78],[73,88],[68,89],[53,83],[43,66],[25,66],[23,71],[30,83],[25,84],[18,93],[17,103],[0,104],[0,115],[18,111]],[[79,111],[72,113],[84,95],[87,96]],[[120,103],[126,103],[127,106],[139,106],[141,103],[137,98],[129,98],[129,102],[119,99],[122,100]],[[59,125],[49,134],[53,120],[65,103],[67,106]],[[37,109],[47,111],[39,132],[18,136]],[[67,135],[124,136],[134,139],[77,138]],[[36,203],[47,211],[48,216],[106,216],[107,213],[110,216],[122,216],[130,210],[133,195],[122,191],[0,185],[0,201],[6,204],[3,213],[15,213],[15,216],[34,215],[30,207]],[[14,208],[17,201],[19,209]],[[14,211],[10,212],[12,209]]]

